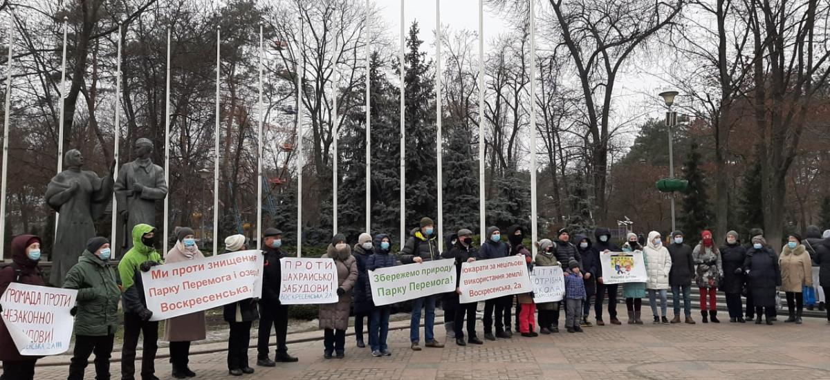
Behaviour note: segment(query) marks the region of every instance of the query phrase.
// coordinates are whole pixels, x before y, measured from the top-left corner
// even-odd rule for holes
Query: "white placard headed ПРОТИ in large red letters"
[[[337,266],[331,259],[283,257],[280,259],[281,304],[334,304]]]

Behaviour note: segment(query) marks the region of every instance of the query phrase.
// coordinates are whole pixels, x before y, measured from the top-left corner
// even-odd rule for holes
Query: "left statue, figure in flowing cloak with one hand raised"
[[[49,277],[54,286],[63,286],[66,272],[78,263],[86,241],[95,237],[95,221],[104,216],[112,199],[115,169],[114,161],[110,164],[110,173],[104,178],[81,170],[84,156],[78,149],[66,152],[63,163],[66,170],[51,178],[46,187],[46,203],[60,213]]]

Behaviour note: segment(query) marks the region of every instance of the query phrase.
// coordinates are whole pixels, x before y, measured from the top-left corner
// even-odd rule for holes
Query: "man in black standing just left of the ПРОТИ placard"
[[[288,305],[280,303],[280,285],[282,270],[280,259],[285,257],[282,246],[282,231],[276,228],[266,228],[262,233],[262,298],[260,299],[260,326],[256,341],[258,355],[256,365],[275,367],[274,360],[268,358],[268,343],[271,338],[271,326],[276,330],[277,362],[292,363],[298,359],[288,354],[286,334],[288,334]]]

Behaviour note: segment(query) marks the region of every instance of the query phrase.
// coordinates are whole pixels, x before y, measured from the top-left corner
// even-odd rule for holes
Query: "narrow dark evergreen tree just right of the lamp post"
[[[700,164],[701,153],[697,151],[697,143],[692,143],[683,163],[683,175],[689,181],[689,187],[683,193],[683,216],[680,221],[683,233],[692,236],[690,241],[699,240],[701,231],[710,226],[709,198]]]

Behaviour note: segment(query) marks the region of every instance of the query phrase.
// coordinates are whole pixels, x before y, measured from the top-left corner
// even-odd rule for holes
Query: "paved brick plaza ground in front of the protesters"
[[[396,322],[393,327],[404,325]],[[481,321],[478,327],[481,331]],[[436,331],[444,340],[443,326]],[[292,334],[289,339],[320,336],[320,332]],[[458,347],[450,341],[446,348],[417,353],[408,348],[408,330],[398,329],[390,332],[389,342],[393,356],[372,358],[368,348],[355,348],[354,338],[347,337],[346,358],[340,360],[323,359],[320,341],[291,343],[289,349],[300,363],[256,367],[255,374],[242,379],[830,379],[830,325],[824,319],[805,319],[800,326],[783,322],[608,325],[586,328],[583,334],[563,332],[533,339],[516,335],[483,346]],[[222,343],[194,346],[197,349],[221,350]],[[250,355],[256,358],[256,349]],[[52,358],[51,363],[65,359]],[[170,378],[167,359],[158,359],[156,368],[159,378]],[[192,355],[191,368],[197,379],[234,378],[227,375],[222,351]],[[118,363],[113,363],[112,373],[119,371]],[[66,378],[66,373],[66,365],[38,367],[36,378]],[[87,378],[94,378],[91,365]]]

